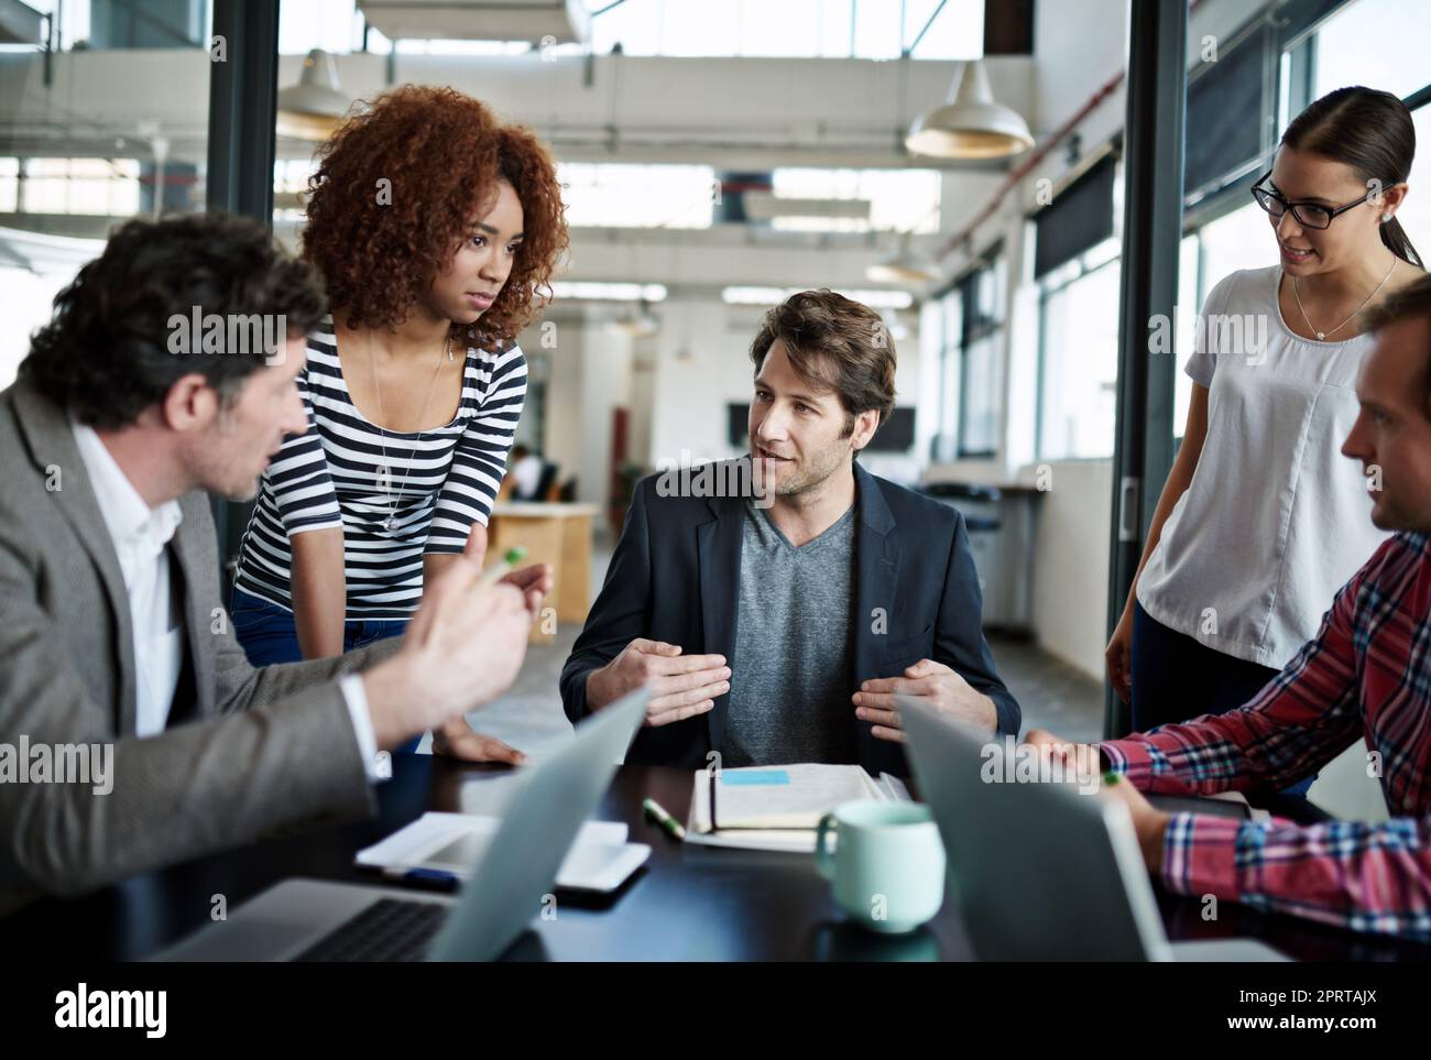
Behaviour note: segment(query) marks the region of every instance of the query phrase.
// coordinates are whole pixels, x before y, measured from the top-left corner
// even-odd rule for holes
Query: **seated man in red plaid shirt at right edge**
[[[1113,770],[1130,781],[1105,791],[1128,804],[1149,871],[1172,891],[1431,940],[1431,278],[1368,316],[1378,342],[1342,453],[1371,478],[1372,522],[1401,532],[1246,705],[1096,745],[1039,730],[1027,741],[1080,775]],[[1275,790],[1358,737],[1391,811],[1385,824],[1166,814],[1139,794]]]

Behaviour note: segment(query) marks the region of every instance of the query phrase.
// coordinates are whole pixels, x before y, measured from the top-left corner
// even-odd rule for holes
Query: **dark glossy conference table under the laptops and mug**
[[[225,854],[145,873],[79,898],[44,898],[0,918],[6,953],[46,954],[63,938],[66,960],[143,960],[209,923],[213,895],[228,908],[286,877],[376,883],[353,854],[428,810],[461,808],[461,787],[487,767],[426,754],[394,755],[379,785],[379,813],[359,824],[265,840]],[[597,818],[625,821],[651,858],[611,897],[558,893],[557,917],[534,918],[509,960],[698,961],[932,961],[970,960],[959,917],[946,903],[926,927],[904,937],[874,936],[843,921],[811,858],[680,844],[643,818],[651,797],[685,820],[691,774],[624,765]],[[1296,800],[1294,800],[1296,803]],[[1295,807],[1268,805],[1292,817]],[[541,835],[532,837],[541,843]],[[1070,868],[1076,871],[1076,868]],[[1261,938],[1299,960],[1427,960],[1431,946],[1355,936],[1224,903],[1205,921],[1201,903],[1159,893],[1169,938]]]

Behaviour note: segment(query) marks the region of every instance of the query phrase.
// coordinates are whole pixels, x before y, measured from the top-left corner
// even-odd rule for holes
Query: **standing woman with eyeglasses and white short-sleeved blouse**
[[[1203,302],[1182,446],[1106,651],[1135,731],[1251,701],[1385,536],[1339,449],[1374,342],[1359,315],[1421,275],[1395,217],[1414,152],[1400,99],[1338,89],[1252,187],[1279,260]]]

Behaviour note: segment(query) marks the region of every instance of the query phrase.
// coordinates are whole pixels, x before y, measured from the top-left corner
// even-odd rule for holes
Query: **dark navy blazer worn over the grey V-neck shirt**
[[[572,721],[588,712],[591,671],[637,637],[677,644],[685,655],[724,655],[731,682],[740,679],[733,651],[744,498],[663,496],[660,478],[651,475],[637,485],[601,595],[562,668],[561,698]],[[1016,735],[1019,704],[999,679],[983,637],[979,575],[963,516],[871,475],[859,462],[854,479],[850,695],[869,678],[900,677],[906,667],[930,658],[993,700],[999,732]],[[730,692],[714,710],[685,721],[643,727],[627,762],[704,768],[707,752],[723,744],[728,700]],[[846,700],[846,707],[859,762],[874,774],[909,775],[902,747],[874,738],[871,724],[854,717],[854,704]]]

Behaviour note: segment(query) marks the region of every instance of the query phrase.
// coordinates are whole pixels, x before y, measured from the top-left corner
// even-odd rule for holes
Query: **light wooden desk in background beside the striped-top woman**
[[[551,564],[551,607],[558,622],[585,622],[591,609],[591,521],[600,514],[594,504],[547,501],[502,501],[488,519],[487,554],[499,556],[509,548],[527,549],[522,565]],[[532,627],[531,642],[548,644],[555,629]]]

